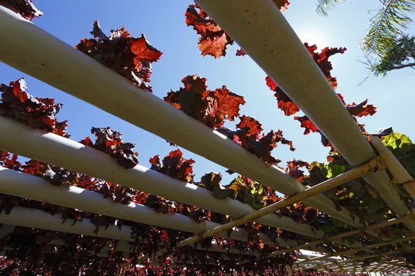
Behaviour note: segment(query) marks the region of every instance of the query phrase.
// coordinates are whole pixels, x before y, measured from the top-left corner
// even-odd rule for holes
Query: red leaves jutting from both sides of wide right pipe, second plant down
[[[320,70],[322,70],[324,76],[326,76],[327,80],[329,80],[331,86],[333,86],[333,89],[336,89],[337,79],[335,77],[331,77],[331,70],[333,69],[333,66],[331,66],[329,57],[338,53],[343,54],[347,49],[326,47],[321,52],[316,52],[317,46],[308,46],[308,43],[304,43],[304,46],[320,67]],[[284,111],[284,115],[291,116],[299,112],[298,106],[291,101],[288,95],[286,95],[284,91],[279,88],[279,86],[277,86],[277,83],[275,83],[269,76],[267,76],[265,80],[266,85],[270,88],[270,90],[275,92],[274,96],[277,98],[278,108]]]

